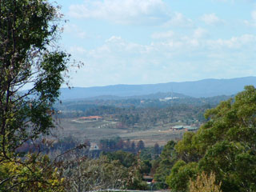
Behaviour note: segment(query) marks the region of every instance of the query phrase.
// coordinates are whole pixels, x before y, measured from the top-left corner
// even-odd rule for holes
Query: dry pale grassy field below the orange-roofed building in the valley
[[[154,146],[156,142],[163,146],[170,140],[182,138],[182,134],[184,134],[183,130],[170,130],[170,126],[174,126],[174,124],[156,125],[147,130],[138,129],[138,127],[135,127],[134,130],[124,130],[116,128],[116,123],[104,120],[82,121],[78,118],[62,118],[60,119],[58,137],[63,138],[72,135],[81,141],[89,139],[91,142],[98,142],[102,138],[119,136],[124,139],[130,138],[134,141],[143,140],[146,146]]]

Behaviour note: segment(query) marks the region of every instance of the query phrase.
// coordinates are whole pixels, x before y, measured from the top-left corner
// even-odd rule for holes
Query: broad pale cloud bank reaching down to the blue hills
[[[93,50],[73,47],[74,53],[80,53],[86,61],[75,81],[81,82],[80,86],[156,83],[213,75],[214,78],[246,76],[249,73],[246,69],[256,71],[253,34],[216,40],[204,38],[206,30],[202,28],[190,35],[175,34],[168,38],[171,34],[172,31],[155,33],[154,42],[149,45],[112,36]]]

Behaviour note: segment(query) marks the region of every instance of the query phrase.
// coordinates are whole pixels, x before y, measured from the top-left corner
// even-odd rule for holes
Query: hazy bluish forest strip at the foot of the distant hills
[[[141,114],[144,110],[183,110],[184,108],[209,109],[217,106],[218,102],[224,101],[229,96],[218,96],[213,98],[178,98],[160,102],[159,99],[122,99],[122,100],[94,100],[78,102],[62,102],[55,104],[54,109],[61,111],[59,118],[78,118],[91,115],[107,114]],[[157,110],[157,111],[155,111]]]

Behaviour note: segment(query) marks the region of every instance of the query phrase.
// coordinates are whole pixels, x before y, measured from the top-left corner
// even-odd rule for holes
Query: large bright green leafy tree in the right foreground
[[[246,86],[234,99],[206,112],[196,134],[185,134],[175,147],[183,160],[168,178],[173,190],[187,190],[190,178],[214,172],[222,191],[256,190],[256,89]],[[182,180],[183,185],[179,185]]]

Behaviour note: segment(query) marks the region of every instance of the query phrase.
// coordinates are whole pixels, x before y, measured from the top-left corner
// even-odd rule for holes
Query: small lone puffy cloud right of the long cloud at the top
[[[186,18],[183,14],[176,12],[164,26],[190,27],[193,26],[193,21],[190,18]]]

